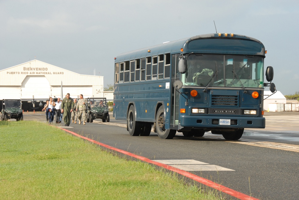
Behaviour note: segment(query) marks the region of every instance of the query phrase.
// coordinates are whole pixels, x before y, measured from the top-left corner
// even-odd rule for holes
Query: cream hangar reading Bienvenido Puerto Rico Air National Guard
[[[81,75],[38,60],[3,69],[0,77],[1,109],[3,99],[21,99],[24,111],[41,111],[49,97],[61,98],[61,93],[72,98],[107,96],[103,76]]]

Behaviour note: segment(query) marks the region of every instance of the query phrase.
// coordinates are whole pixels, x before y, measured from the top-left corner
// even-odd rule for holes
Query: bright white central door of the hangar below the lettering
[[[45,76],[26,76],[22,82],[21,99],[48,99],[51,86]]]

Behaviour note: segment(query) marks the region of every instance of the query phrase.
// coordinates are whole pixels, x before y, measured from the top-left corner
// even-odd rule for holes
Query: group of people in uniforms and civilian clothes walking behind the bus
[[[62,115],[65,126],[69,126],[72,123],[86,124],[86,110],[87,100],[83,98],[83,95],[79,95],[80,99],[77,102],[77,99],[72,99],[70,94],[66,94],[65,98],[61,101],[60,98],[57,98],[55,102],[52,97],[46,101],[46,104],[42,111],[46,112],[46,120],[49,124],[52,124],[54,121],[54,115],[56,114],[56,123],[61,123]]]

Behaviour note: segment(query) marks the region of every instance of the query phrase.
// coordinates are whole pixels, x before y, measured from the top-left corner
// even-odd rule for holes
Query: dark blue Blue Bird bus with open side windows
[[[238,140],[265,128],[263,91],[276,92],[264,45],[244,35],[205,34],[138,49],[115,58],[116,120],[131,136],[161,139],[205,132]]]

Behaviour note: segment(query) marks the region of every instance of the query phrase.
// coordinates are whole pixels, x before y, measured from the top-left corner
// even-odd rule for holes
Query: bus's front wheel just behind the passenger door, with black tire
[[[176,135],[176,130],[165,129],[164,108],[161,106],[156,114],[156,130],[161,139],[173,139]]]

